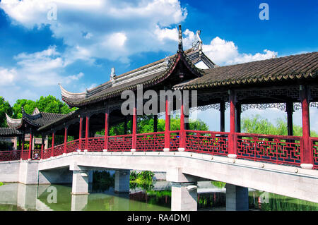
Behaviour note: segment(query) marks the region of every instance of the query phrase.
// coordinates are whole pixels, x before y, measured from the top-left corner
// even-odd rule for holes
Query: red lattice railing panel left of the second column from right
[[[228,155],[228,133],[186,130],[186,151]]]

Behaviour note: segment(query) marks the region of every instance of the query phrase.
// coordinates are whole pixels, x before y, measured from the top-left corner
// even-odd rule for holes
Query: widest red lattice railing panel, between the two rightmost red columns
[[[302,137],[236,133],[237,158],[300,166]]]

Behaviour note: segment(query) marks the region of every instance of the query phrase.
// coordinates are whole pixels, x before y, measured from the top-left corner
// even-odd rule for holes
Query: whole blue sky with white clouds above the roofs
[[[269,20],[259,18],[263,2]],[[83,92],[112,67],[119,75],[175,54],[178,24],[184,48],[201,30],[204,52],[224,66],[318,51],[317,22],[315,0],[2,0],[0,96],[60,97],[57,83]]]

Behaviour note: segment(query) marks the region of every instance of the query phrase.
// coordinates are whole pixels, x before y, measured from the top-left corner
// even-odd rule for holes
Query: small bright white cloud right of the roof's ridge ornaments
[[[276,51],[267,49],[264,49],[264,53],[241,54],[234,42],[225,41],[220,37],[213,38],[210,44],[203,44],[202,50],[214,63],[219,66],[271,59],[273,56],[277,56],[278,54]]]

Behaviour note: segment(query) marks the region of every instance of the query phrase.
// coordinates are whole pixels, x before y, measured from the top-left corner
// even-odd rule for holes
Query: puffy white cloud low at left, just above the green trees
[[[68,63],[55,46],[30,54],[23,52],[13,59],[13,68],[0,67],[0,95],[11,103],[21,97],[37,99],[57,90],[58,83],[72,84],[84,76],[82,72],[65,75]]]

